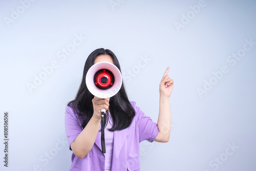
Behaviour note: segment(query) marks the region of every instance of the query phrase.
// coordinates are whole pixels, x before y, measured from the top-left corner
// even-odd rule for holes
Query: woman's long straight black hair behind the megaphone
[[[112,57],[114,65],[120,70],[120,65],[116,55],[109,49],[96,49],[87,58],[83,69],[83,76],[80,87],[78,89],[76,98],[68,103],[73,108],[76,114],[82,118],[82,127],[86,127],[87,123],[93,116],[93,103],[94,96],[90,93],[86,85],[86,74],[88,70],[94,65],[94,61],[99,55],[109,55]],[[130,103],[124,84],[122,82],[119,92],[110,98],[109,109],[113,120],[113,126],[110,131],[123,130],[129,127],[135,116],[135,110]],[[107,117],[108,118],[108,117]],[[108,119],[107,119],[108,120]],[[108,122],[108,121],[107,121]],[[106,122],[106,123],[107,123]],[[106,124],[105,124],[106,125]]]

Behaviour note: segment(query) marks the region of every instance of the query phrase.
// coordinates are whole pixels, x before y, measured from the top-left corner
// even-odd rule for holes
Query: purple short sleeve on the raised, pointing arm
[[[144,114],[140,110],[138,106],[136,106],[136,103],[134,101],[131,101],[132,106],[135,110],[135,118],[136,123],[139,127],[139,140],[140,142],[143,140],[147,140],[149,142],[153,142],[154,139],[156,139],[159,130],[157,127],[157,124],[152,121],[152,119]]]

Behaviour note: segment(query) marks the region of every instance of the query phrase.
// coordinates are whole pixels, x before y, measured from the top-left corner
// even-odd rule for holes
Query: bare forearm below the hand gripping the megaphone
[[[92,117],[83,131],[71,143],[71,149],[76,157],[84,158],[92,149],[100,126],[100,119]]]

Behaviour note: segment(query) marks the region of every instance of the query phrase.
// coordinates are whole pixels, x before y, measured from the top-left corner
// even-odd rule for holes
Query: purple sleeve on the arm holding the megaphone
[[[69,149],[72,150],[70,145],[81,133],[82,127],[78,120],[78,117],[76,116],[74,110],[70,106],[66,107],[65,130],[69,142]]]

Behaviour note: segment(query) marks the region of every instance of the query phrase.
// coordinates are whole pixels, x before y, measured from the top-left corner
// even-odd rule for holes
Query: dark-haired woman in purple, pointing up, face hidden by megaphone
[[[86,74],[98,62],[110,62],[120,71],[115,54],[108,49],[93,51],[86,60],[76,98],[68,103],[65,115],[66,134],[72,154],[70,170],[140,170],[139,143],[168,142],[170,134],[170,104],[174,80],[166,69],[160,82],[160,105],[157,124],[129,101],[124,85],[108,99],[94,97],[86,86]],[[101,109],[106,109],[105,147],[100,144]]]

